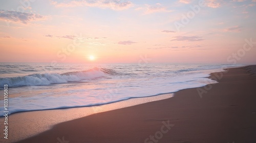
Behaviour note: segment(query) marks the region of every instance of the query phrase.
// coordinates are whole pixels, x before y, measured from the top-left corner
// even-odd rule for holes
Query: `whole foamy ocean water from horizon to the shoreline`
[[[0,63],[0,92],[7,84],[9,114],[86,107],[217,83],[209,74],[234,66],[241,65]]]

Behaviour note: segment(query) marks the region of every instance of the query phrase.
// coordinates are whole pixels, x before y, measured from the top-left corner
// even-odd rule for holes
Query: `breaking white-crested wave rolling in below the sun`
[[[0,86],[4,87],[8,84],[9,87],[20,86],[38,86],[51,85],[68,82],[80,82],[84,80],[96,79],[106,76],[121,75],[113,69],[94,67],[83,71],[73,71],[63,74],[32,74],[23,77],[0,78]]]

